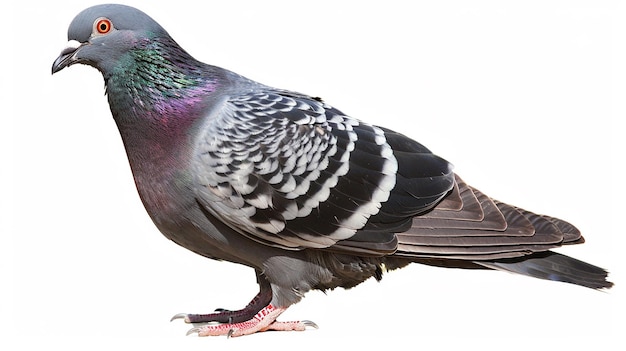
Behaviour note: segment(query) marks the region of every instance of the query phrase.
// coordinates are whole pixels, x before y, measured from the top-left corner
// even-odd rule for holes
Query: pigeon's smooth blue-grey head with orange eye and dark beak
[[[52,73],[83,63],[97,68],[106,77],[129,51],[158,37],[169,35],[152,18],[133,7],[104,4],[87,8],[70,24],[68,47],[54,61]]]

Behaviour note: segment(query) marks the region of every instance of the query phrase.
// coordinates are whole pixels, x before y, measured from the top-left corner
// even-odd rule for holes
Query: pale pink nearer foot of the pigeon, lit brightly
[[[226,335],[242,336],[254,334],[256,332],[262,332],[266,330],[305,330],[307,326],[317,328],[317,325],[310,321],[301,322],[277,322],[276,318],[283,313],[286,308],[274,307],[269,304],[262,308],[252,319],[239,322],[239,323],[224,323],[216,325],[204,325],[201,327],[192,328],[187,332],[187,335],[192,333],[198,333],[199,336],[217,336]]]

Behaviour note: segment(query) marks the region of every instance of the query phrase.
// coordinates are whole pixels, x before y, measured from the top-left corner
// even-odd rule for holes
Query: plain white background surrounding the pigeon
[[[185,337],[169,318],[242,307],[257,291],[252,270],[164,239],[134,189],[100,74],[50,75],[90,4],[1,5],[0,348],[623,346],[623,5],[128,1],[204,62],[400,130],[487,194],[573,222],[587,243],[559,252],[617,283],[598,292],[412,265],[311,292],[282,317],[319,330],[227,340]]]

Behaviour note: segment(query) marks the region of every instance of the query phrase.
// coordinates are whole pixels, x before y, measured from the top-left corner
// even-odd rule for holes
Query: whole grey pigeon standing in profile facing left
[[[138,9],[89,7],[68,39],[52,73],[76,63],[102,73],[156,227],[256,272],[259,293],[242,309],[175,315],[199,325],[188,334],[316,328],[277,319],[310,290],[411,263],[613,285],[606,270],[550,250],[584,241],[572,224],[485,195],[417,141],[321,98],[202,63]]]

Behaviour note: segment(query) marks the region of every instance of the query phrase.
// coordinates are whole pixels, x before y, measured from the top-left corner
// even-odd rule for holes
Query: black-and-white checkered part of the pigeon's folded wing
[[[394,252],[393,231],[454,184],[419,143],[277,90],[231,98],[204,126],[194,166],[207,211],[286,249]]]

